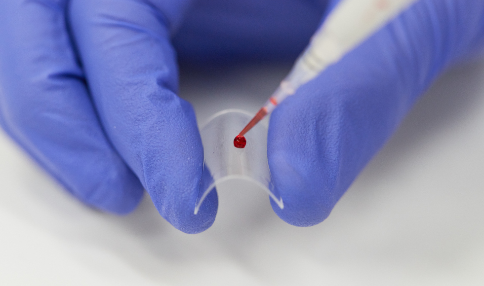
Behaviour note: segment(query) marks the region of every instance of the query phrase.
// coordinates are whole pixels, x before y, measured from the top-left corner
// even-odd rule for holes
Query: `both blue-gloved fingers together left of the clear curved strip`
[[[1,0],[0,115],[86,204],[125,214],[144,187],[166,220],[196,233],[217,195],[193,214],[203,152],[170,44],[189,2]]]

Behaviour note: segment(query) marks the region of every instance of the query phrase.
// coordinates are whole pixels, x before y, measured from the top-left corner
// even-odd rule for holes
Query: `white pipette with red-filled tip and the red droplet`
[[[310,44],[276,91],[234,139],[234,146],[243,148],[245,133],[271,113],[285,98],[293,95],[297,88],[315,78],[328,66],[337,63],[345,54],[415,1],[341,1],[313,35]]]

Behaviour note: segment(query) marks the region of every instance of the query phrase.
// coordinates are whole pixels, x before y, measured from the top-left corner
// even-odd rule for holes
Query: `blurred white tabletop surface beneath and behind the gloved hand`
[[[287,67],[183,74],[201,120],[255,111]],[[0,285],[483,285],[484,62],[444,75],[323,223],[282,222],[243,183],[212,228],[175,230],[145,198],[84,207],[0,135]],[[244,101],[241,96],[252,95]]]

